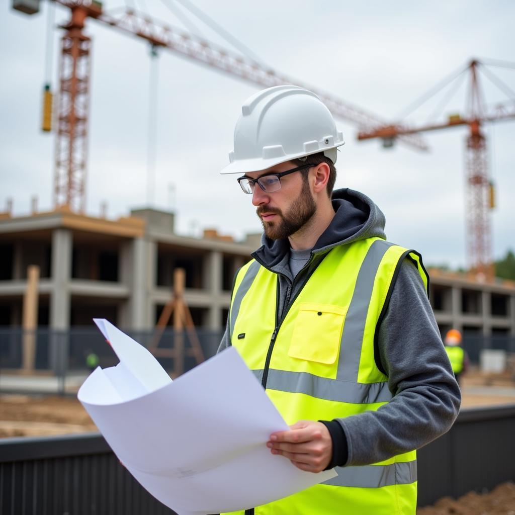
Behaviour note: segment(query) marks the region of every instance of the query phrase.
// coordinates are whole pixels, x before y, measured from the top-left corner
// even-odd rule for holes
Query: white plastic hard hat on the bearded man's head
[[[230,164],[221,174],[264,170],[317,152],[336,163],[343,145],[334,118],[315,93],[298,86],[274,86],[247,99],[234,129]]]

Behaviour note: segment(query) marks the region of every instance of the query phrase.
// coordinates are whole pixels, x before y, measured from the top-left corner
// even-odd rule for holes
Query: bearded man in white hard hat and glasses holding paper
[[[415,450],[458,413],[420,254],[386,242],[364,194],[333,192],[343,144],[314,93],[278,86],[245,102],[221,171],[264,234],[236,274],[219,350],[237,348],[290,425],[270,452],[338,473],[242,515],[414,514]]]

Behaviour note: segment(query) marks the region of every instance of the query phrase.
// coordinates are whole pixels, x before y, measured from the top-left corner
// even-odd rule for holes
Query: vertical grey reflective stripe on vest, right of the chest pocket
[[[344,332],[341,335],[340,357],[336,373],[336,378],[341,381],[354,383],[357,381],[363,333],[375,275],[383,256],[392,245],[382,239],[376,239],[368,249],[357,274],[356,286],[345,317]]]

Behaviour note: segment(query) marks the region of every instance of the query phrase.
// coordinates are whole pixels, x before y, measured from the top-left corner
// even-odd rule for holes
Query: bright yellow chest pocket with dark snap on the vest
[[[331,365],[340,350],[347,308],[302,303],[295,320],[288,356]]]

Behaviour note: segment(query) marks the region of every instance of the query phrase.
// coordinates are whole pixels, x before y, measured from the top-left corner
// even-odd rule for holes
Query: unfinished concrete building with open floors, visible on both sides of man
[[[224,328],[234,273],[259,245],[204,231],[174,233],[173,213],[133,210],[116,221],[58,210],[13,218],[0,213],[0,325],[20,326],[27,268],[38,265],[38,323],[53,329],[91,326],[151,329],[170,299],[173,272],[186,271],[185,300],[194,322]],[[442,333],[515,335],[515,283],[486,283],[431,270],[431,302]]]

